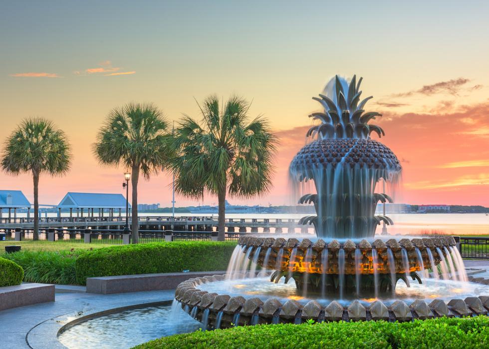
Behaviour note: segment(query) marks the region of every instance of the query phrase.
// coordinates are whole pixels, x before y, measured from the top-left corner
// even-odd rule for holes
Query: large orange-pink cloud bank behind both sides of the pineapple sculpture
[[[396,114],[384,111],[375,120],[386,136],[378,139],[403,166],[404,190],[397,202],[489,206],[489,103],[446,112]],[[433,113],[432,113],[433,112]],[[303,119],[304,124],[307,118]],[[270,199],[285,202],[290,193],[288,165],[305,144],[309,125],[276,132],[274,189]]]

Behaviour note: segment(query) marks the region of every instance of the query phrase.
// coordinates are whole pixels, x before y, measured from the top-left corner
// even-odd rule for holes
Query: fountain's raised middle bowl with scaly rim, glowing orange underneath
[[[410,274],[439,265],[456,248],[452,236],[362,240],[358,244],[245,236],[239,245],[247,258],[265,269],[345,275]]]

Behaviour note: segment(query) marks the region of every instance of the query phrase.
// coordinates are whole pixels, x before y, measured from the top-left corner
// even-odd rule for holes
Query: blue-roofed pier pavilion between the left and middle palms
[[[104,211],[108,210],[109,216],[114,216],[114,209],[121,210],[126,208],[126,198],[122,194],[105,193],[72,193],[68,192],[57,205],[59,214],[62,209],[70,210],[70,217],[73,216],[73,209],[76,209],[76,216],[83,217],[83,210],[87,210],[88,216],[93,217],[93,210],[98,209],[99,217],[103,217]],[[131,208],[131,205],[129,205]],[[90,212],[91,210],[91,212]]]

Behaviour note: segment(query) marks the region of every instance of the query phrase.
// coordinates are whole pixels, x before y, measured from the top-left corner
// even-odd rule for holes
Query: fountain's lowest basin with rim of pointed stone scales
[[[223,289],[222,283],[226,282],[224,278],[226,276],[215,275],[189,279],[177,287],[175,299],[184,311],[203,323],[206,328],[278,323],[298,324],[308,319],[316,322],[340,320],[404,322],[413,319],[424,320],[442,316],[462,317],[489,313],[489,296],[485,295],[468,296],[464,299],[412,299],[408,297],[340,301],[293,296],[270,297],[256,292],[249,292],[245,295],[246,297],[236,292],[230,292],[231,294],[212,292],[214,289]],[[257,284],[263,283],[260,279],[255,280]],[[246,280],[239,282],[243,283]],[[213,283],[216,286],[213,286]],[[487,286],[482,287],[483,291],[487,291],[486,288],[489,290]],[[270,292],[276,293],[276,291]]]

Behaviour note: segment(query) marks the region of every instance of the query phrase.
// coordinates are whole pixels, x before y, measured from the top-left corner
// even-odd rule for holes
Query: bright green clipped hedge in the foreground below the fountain
[[[440,318],[409,323],[368,321],[258,325],[164,337],[159,348],[488,348],[489,318]]]

